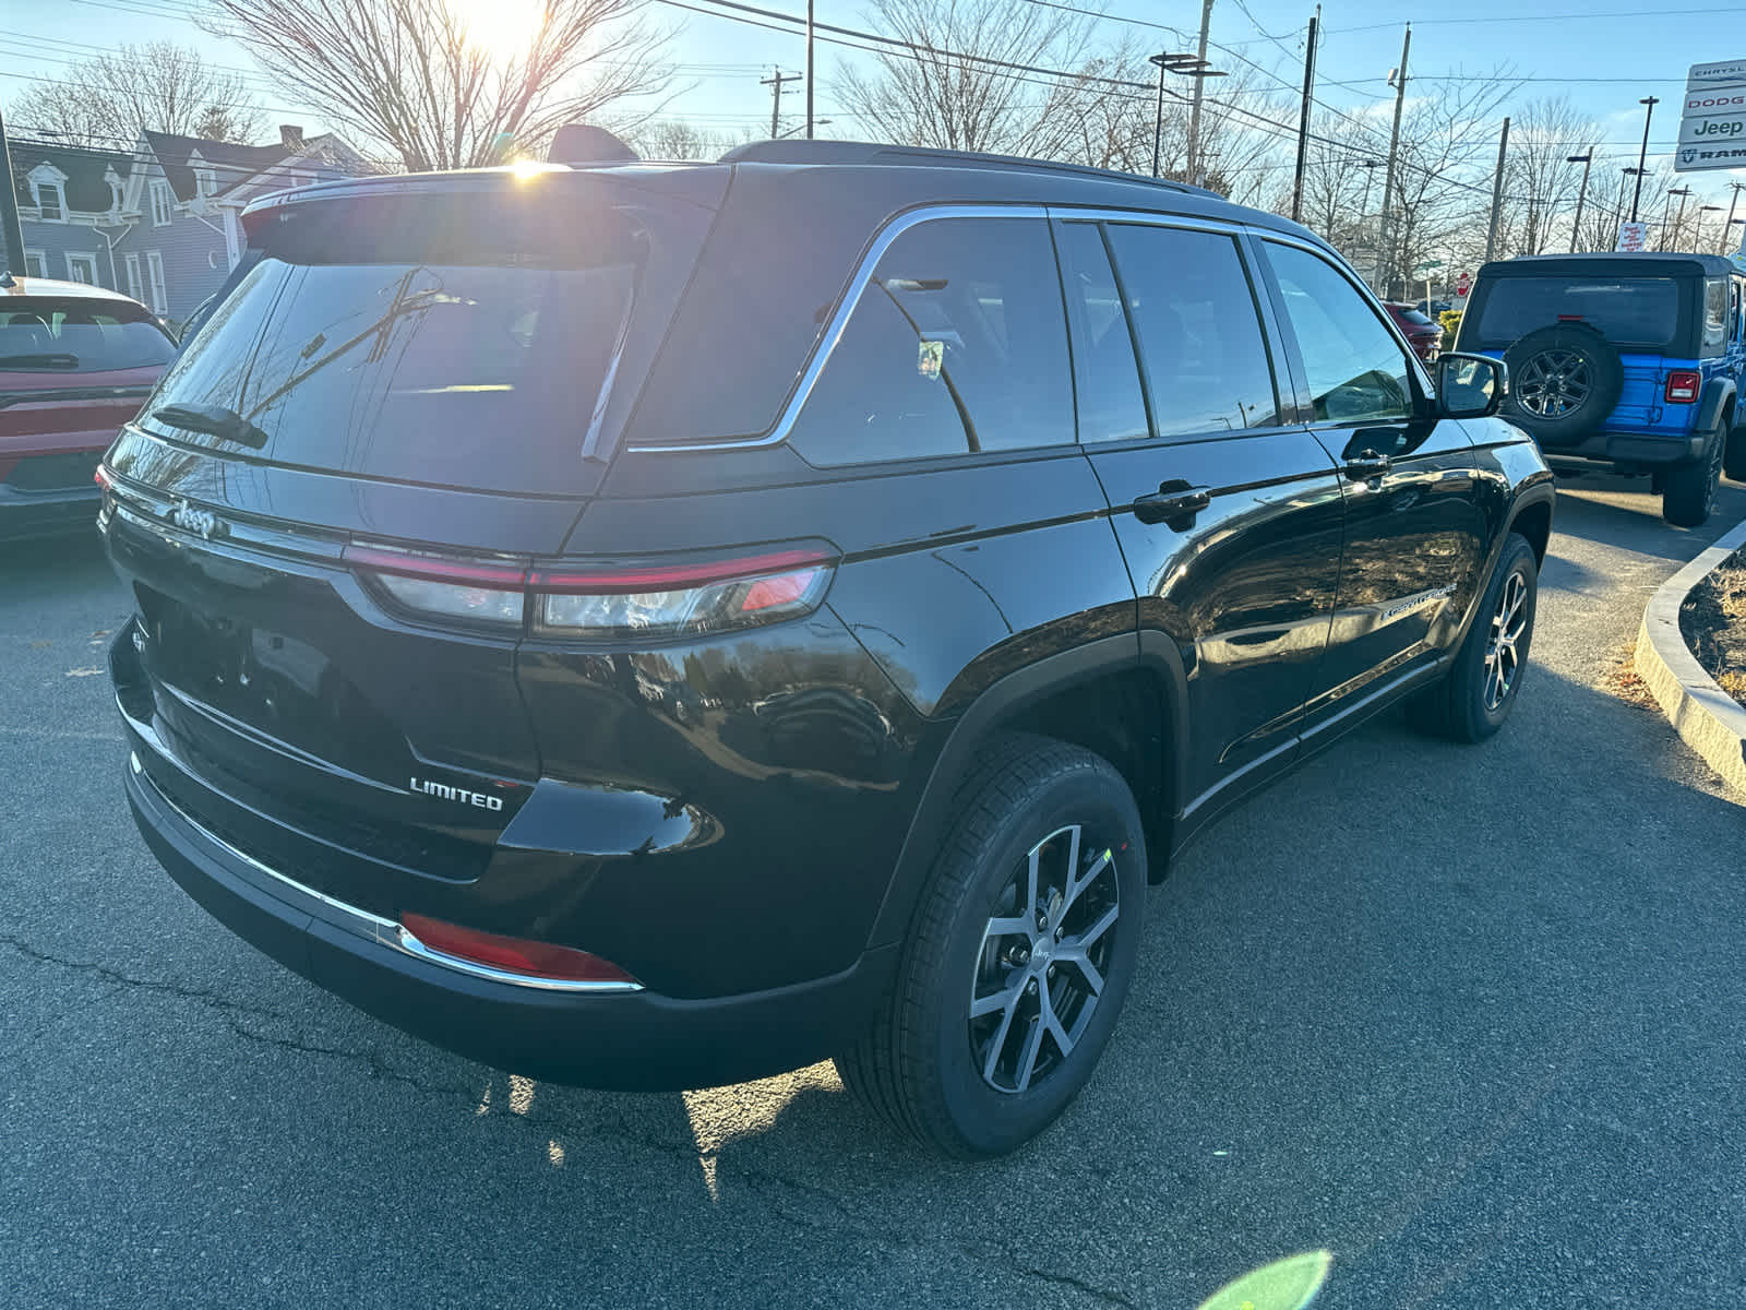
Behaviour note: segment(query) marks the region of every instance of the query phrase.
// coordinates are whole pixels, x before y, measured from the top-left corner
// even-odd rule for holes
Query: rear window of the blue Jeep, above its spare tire
[[[1484,346],[1509,346],[1550,323],[1577,321],[1615,346],[1671,351],[1680,339],[1673,278],[1498,278],[1479,314]]]

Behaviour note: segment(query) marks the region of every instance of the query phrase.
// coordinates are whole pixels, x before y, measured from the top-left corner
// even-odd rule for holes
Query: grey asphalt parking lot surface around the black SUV
[[[1320,1307],[1746,1301],[1746,807],[1617,690],[1746,517],[1561,494],[1503,735],[1364,728],[1149,903],[1091,1088],[1016,1156],[889,1137],[829,1065],[529,1083],[283,971],[120,793],[94,540],[0,547],[0,1305],[1193,1310],[1306,1249]]]

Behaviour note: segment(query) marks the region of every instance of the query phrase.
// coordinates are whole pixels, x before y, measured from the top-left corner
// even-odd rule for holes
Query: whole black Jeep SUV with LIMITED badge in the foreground
[[[1289,222],[843,143],[311,187],[110,449],[127,796],[217,919],[512,1071],[1084,1085],[1147,879],[1404,697],[1500,727],[1552,517]]]

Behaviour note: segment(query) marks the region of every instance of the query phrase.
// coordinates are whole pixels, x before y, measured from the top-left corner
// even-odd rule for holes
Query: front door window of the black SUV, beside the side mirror
[[[1268,243],[1316,423],[1413,417],[1413,365],[1371,304],[1325,259]]]

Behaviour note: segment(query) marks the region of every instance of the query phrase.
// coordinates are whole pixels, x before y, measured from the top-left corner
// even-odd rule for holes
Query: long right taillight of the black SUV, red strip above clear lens
[[[543,636],[702,636],[812,613],[831,583],[828,550],[634,566],[457,561],[375,547],[344,559],[393,606]]]

